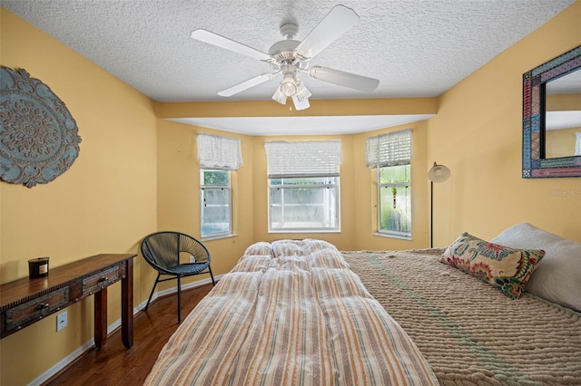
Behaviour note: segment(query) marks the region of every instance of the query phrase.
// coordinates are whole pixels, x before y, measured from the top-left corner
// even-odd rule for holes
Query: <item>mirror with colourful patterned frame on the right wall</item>
[[[523,74],[523,179],[581,177],[581,46]]]

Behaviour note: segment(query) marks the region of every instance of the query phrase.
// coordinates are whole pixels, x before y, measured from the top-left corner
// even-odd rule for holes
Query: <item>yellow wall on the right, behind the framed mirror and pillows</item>
[[[522,74],[581,44],[579,20],[577,1],[440,96],[428,162],[451,178],[434,186],[435,246],[521,221],[581,241],[581,180],[521,178]]]

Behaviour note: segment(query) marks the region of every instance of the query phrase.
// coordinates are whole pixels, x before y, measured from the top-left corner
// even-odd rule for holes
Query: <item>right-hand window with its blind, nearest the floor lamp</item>
[[[378,233],[411,238],[411,130],[369,137],[365,153],[378,169]]]

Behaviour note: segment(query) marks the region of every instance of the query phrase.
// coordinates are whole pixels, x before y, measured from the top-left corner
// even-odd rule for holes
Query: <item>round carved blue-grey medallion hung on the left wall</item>
[[[0,179],[27,188],[68,170],[79,155],[76,122],[51,89],[24,69],[0,66]]]

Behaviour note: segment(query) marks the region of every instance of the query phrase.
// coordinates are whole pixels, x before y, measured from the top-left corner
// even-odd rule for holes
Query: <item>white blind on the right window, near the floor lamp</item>
[[[368,168],[407,165],[411,159],[411,129],[369,137],[365,143]]]

